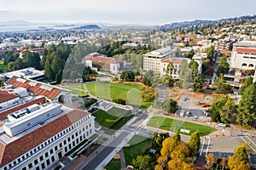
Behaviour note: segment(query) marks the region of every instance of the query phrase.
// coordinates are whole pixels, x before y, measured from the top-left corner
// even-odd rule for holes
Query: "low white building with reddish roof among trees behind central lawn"
[[[92,53],[82,59],[82,63],[90,68],[97,68],[102,71],[110,71],[117,74],[125,69],[126,61],[107,57],[105,54]]]

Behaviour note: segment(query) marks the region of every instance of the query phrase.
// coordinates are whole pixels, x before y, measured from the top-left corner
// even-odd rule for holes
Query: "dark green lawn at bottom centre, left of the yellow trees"
[[[151,147],[152,139],[147,139],[142,136],[134,136],[128,144],[129,147],[124,147],[125,163],[131,165],[132,159],[136,159],[137,156],[142,156],[145,150]]]

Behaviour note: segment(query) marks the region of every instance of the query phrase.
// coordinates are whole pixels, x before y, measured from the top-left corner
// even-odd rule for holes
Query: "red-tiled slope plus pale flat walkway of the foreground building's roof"
[[[56,104],[61,105],[61,104]],[[89,113],[75,108],[61,105],[61,113],[29,128],[25,132],[19,133],[14,137],[9,137],[6,133],[0,134],[0,167],[13,161],[16,157],[26,153],[28,150],[43,143],[46,139],[54,136],[61,130],[78,122]],[[0,127],[0,131],[3,127]]]

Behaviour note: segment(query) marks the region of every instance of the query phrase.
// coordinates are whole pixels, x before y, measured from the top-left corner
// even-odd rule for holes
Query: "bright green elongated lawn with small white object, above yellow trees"
[[[204,125],[196,124],[192,122],[177,121],[177,120],[162,117],[162,116],[152,117],[148,122],[148,126],[159,127],[161,129],[170,130],[170,131],[177,131],[183,128],[183,129],[190,130],[189,135],[191,135],[196,130],[198,130],[200,136],[206,136],[207,134],[213,133],[214,131],[216,131],[216,129],[213,127],[204,126]],[[185,134],[188,134],[188,133],[185,133]]]

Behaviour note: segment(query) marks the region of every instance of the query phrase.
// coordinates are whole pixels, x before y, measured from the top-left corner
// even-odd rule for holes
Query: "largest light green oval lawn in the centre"
[[[151,102],[142,102],[143,99],[139,97],[143,86],[136,83],[110,83],[110,82],[96,82],[86,85],[90,94],[112,101],[112,99],[125,99],[126,104],[139,107],[141,109],[148,108]]]

